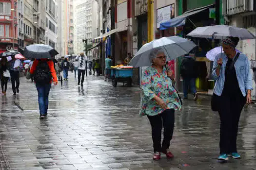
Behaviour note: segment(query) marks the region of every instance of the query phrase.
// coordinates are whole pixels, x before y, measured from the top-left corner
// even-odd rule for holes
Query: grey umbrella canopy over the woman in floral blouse
[[[166,61],[170,61],[189,53],[196,46],[197,45],[192,41],[179,36],[162,37],[143,45],[132,58],[129,65],[133,67],[151,66],[149,54],[159,47],[161,47],[168,56]]]

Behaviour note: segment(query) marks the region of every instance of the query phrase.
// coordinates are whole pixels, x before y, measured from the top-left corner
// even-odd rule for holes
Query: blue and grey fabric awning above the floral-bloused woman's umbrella
[[[189,11],[186,11],[184,14],[182,14],[181,16],[175,17],[173,19],[170,19],[167,22],[163,22],[160,24],[160,30],[166,30],[168,28],[171,27],[180,27],[185,25],[186,23],[186,18],[189,16],[192,16],[194,14],[197,14],[201,11],[204,11],[206,9],[209,9],[210,7],[212,7],[214,4],[208,5],[208,6],[204,6],[204,7],[200,7],[200,8],[196,8],[196,9],[192,9]]]

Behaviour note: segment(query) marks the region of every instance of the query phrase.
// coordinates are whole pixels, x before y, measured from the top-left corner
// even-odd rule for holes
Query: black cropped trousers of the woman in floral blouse
[[[167,109],[156,116],[148,116],[152,128],[154,153],[169,149],[174,131],[174,109]],[[161,146],[161,134],[163,130],[163,142]]]

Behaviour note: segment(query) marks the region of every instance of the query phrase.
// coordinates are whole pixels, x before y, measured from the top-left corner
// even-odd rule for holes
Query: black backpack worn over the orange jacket
[[[52,74],[46,61],[39,61],[34,79],[39,84],[49,84],[51,82]]]

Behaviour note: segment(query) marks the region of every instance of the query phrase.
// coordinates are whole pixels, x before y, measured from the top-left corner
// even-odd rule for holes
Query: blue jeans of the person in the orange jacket
[[[38,103],[39,103],[40,115],[47,114],[51,84],[46,84],[46,85],[36,84],[36,87],[38,90]]]

